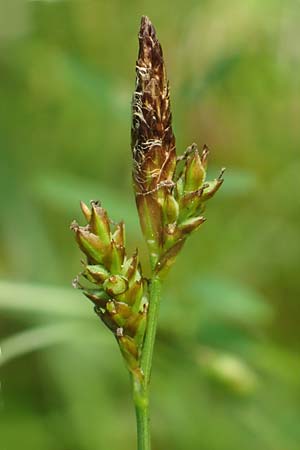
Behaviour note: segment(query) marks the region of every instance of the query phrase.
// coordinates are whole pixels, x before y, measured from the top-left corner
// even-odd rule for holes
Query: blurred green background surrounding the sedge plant
[[[153,450],[298,450],[300,3],[0,2],[0,447],[132,450],[116,343],[72,289],[80,199],[145,247],[131,189],[137,32],[150,16],[178,152],[227,167],[164,290]],[[298,353],[298,354],[297,354]]]

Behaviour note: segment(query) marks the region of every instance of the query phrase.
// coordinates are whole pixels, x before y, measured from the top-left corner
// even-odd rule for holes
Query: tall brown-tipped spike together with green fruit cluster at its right
[[[132,101],[133,181],[140,224],[153,270],[203,223],[204,203],[223,182],[206,182],[208,148],[192,144],[176,156],[169,84],[161,45],[148,17],[142,17]],[[192,220],[192,222],[191,222]],[[188,222],[187,222],[188,221]],[[172,250],[171,250],[172,249]],[[159,264],[158,264],[159,263]]]

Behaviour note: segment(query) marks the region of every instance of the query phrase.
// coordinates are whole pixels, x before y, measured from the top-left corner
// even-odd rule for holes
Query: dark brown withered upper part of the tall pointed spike
[[[172,184],[176,155],[163,52],[155,28],[146,16],[142,17],[139,31],[132,112],[136,194],[151,195],[158,186]]]

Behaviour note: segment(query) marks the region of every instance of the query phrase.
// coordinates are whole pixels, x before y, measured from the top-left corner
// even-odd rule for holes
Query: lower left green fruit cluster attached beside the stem
[[[97,315],[114,333],[128,369],[142,377],[148,300],[138,253],[127,258],[124,223],[111,230],[107,212],[98,202],[91,202],[91,208],[81,202],[81,210],[88,224],[82,227],[73,222],[71,228],[86,255],[81,278],[90,285],[82,285],[77,278],[75,286],[94,303]]]

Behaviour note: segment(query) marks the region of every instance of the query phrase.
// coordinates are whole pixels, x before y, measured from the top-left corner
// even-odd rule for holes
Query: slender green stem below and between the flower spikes
[[[161,281],[154,276],[150,284],[150,299],[145,342],[141,358],[143,380],[133,376],[133,396],[137,423],[138,450],[151,450],[149,418],[149,383],[153,358],[153,348],[157,328]]]

